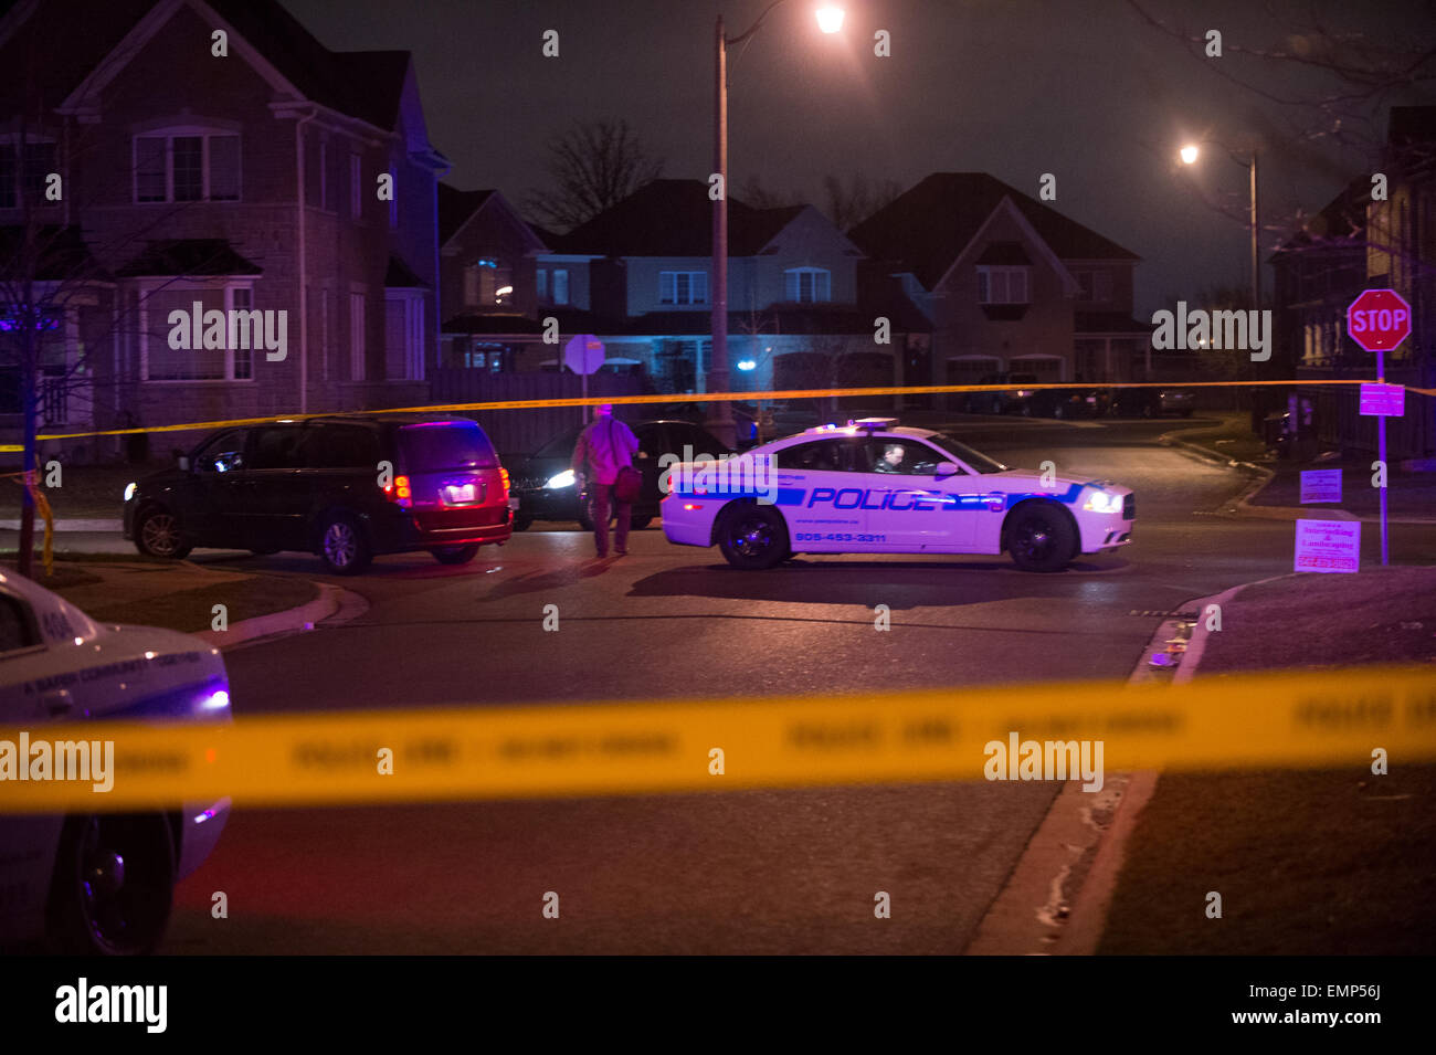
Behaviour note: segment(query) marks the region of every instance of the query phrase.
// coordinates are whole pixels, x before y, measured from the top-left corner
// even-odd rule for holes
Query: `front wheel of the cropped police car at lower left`
[[[142,956],[169,922],[175,848],[158,814],[67,817],[50,881],[46,937],[70,956]]]

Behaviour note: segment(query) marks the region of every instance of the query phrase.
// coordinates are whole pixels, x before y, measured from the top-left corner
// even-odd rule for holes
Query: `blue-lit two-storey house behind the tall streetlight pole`
[[[711,360],[712,201],[699,179],[655,179],[573,231],[543,234],[538,314],[593,333],[610,366],[658,392],[702,392]],[[735,390],[890,385],[909,333],[873,339],[875,317],[923,327],[900,291],[867,281],[863,253],[811,205],[728,200],[728,363]],[[892,306],[890,301],[899,301]],[[521,369],[556,369],[536,347]]]

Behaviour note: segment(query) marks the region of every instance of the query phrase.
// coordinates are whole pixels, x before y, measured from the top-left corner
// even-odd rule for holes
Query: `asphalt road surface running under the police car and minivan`
[[[717,550],[669,545],[658,527],[632,537],[629,557],[596,561],[577,530],[530,531],[462,568],[415,554],[342,580],[369,611],[227,653],[234,708],[1124,680],[1160,622],[1142,613],[1291,570],[1292,525],[1211,515],[1245,478],[1152,442],[1170,428],[961,426],[1010,464],[1051,459],[1060,475],[1136,491],[1133,544],[1063,574],[1024,574],[1005,557],[827,555],[741,573]],[[1393,528],[1393,558],[1426,551],[1429,533]],[[317,571],[297,554],[236,566]],[[873,624],[879,603],[887,633]],[[543,630],[549,604],[557,633]],[[972,782],[241,808],[177,891],[167,949],[958,953],[1055,792]],[[221,890],[230,916],[215,920]],[[559,919],[541,914],[546,891],[560,897]],[[890,894],[892,919],[875,919],[876,891]]]

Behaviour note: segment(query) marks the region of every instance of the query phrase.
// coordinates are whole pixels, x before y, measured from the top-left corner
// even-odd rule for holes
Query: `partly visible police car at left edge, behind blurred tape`
[[[0,774],[17,778],[17,745],[30,735],[102,741],[103,719],[230,721],[218,649],[172,630],[101,626],[36,583],[0,574]],[[65,953],[154,950],[175,881],[210,854],[228,811],[224,798],[154,814],[0,814],[0,946],[45,939]]]

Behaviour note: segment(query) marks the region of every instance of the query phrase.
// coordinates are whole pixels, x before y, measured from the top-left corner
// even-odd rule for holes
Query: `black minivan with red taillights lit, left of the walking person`
[[[350,576],[382,553],[465,564],[513,534],[508,472],[468,418],[310,418],[217,432],[126,488],[125,538],[152,557],[192,547],[314,553]]]

